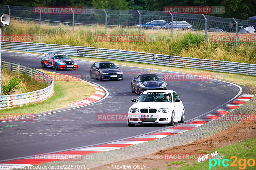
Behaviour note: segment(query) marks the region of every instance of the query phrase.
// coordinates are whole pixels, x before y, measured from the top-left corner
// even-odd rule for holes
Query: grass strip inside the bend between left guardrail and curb
[[[0,110],[0,115],[27,115],[52,111],[85,99],[95,92],[91,85],[83,81],[54,81],[54,94],[50,98],[41,103]]]

